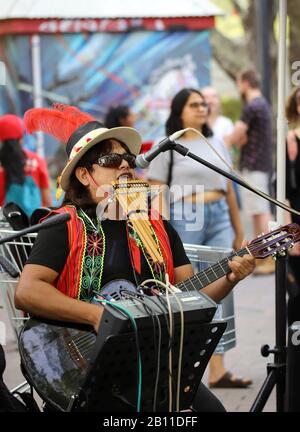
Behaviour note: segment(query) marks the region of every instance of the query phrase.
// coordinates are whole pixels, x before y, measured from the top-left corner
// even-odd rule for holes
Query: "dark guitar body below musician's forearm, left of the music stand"
[[[88,326],[26,322],[19,338],[21,362],[25,377],[44,401],[67,410],[86,376],[95,341]]]

